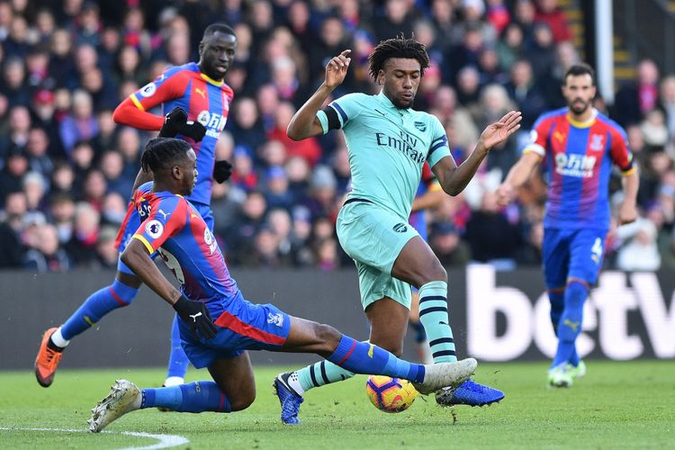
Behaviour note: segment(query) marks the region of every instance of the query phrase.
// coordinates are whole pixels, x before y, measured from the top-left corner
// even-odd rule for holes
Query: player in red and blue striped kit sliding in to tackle
[[[145,408],[180,412],[230,412],[256,398],[256,382],[246,350],[315,353],[356,374],[384,374],[410,380],[421,393],[464,383],[473,358],[418,365],[368,342],[358,342],[329,325],[289,316],[272,304],[247,302],[197,208],[186,200],[197,181],[195,155],[180,139],[148,142],[141,165],[154,182],[134,195],[142,223],[121,259],[179,317],[180,338],[190,362],[208,367],[213,381],[139,389],[118,380],[92,410],[89,429],[99,432],[122,415]],[[158,252],[180,291],[150,256]],[[215,318],[215,320],[211,320]]]

